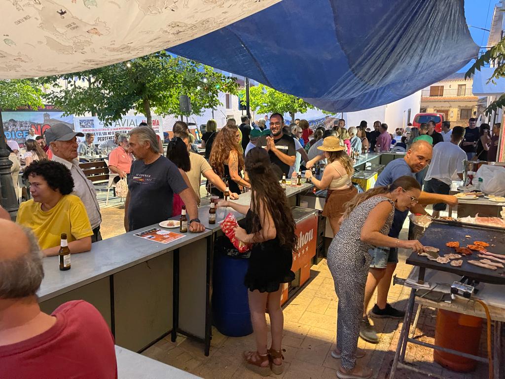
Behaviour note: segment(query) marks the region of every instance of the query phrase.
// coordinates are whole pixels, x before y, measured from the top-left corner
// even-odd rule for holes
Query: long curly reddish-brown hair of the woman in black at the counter
[[[224,175],[224,164],[228,163],[230,152],[233,150],[235,150],[238,155],[238,171],[240,172],[244,168],[244,158],[242,154],[238,153],[240,148],[235,140],[237,130],[238,127],[236,125],[225,125],[225,127],[216,134],[216,138],[212,144],[209,164],[219,176]]]

